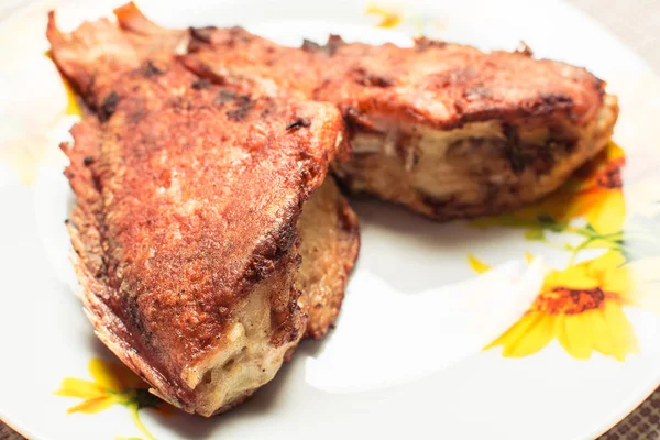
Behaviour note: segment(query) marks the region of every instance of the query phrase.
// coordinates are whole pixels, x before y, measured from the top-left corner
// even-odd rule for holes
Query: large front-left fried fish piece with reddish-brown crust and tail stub
[[[271,381],[302,337],[296,284],[318,286],[299,278],[299,253],[323,255],[315,240],[328,240],[324,255],[346,260],[321,264],[352,266],[355,219],[331,180],[315,204],[350,220],[302,232],[312,251],[300,244],[344,124],[330,105],[210,84],[174,56],[186,32],[131,9],[117,11],[121,29],[100,20],[72,34],[50,15],[53,59],[96,112],[63,144],[74,265],[101,341],[155,394],[210,416]],[[309,293],[330,315],[340,275],[332,294]]]

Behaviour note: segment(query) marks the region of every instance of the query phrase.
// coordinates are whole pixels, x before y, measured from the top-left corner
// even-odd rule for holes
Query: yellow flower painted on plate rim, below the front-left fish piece
[[[120,363],[92,359],[89,361],[87,370],[92,381],[67,377],[62,381],[61,388],[55,392],[58,396],[82,399],[78,405],[70,407],[67,413],[96,414],[114,405],[121,405],[129,408],[135,427],[144,437],[153,440],[154,436],[140,419],[140,410],[155,408],[167,414],[172,408],[151,394],[148,385]]]

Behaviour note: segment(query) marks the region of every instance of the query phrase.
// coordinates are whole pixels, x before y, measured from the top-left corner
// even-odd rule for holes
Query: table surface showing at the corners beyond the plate
[[[566,0],[617,35],[660,72],[660,0]],[[3,2],[4,3],[4,2]],[[8,0],[0,15],[16,8],[22,0]],[[23,438],[0,421],[0,440]],[[660,440],[660,388],[641,406],[598,440]]]

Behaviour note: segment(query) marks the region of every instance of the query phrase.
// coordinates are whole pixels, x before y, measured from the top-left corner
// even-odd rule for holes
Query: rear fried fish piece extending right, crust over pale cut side
[[[558,188],[609,140],[616,97],[587,70],[418,38],[411,47],[279,46],[240,29],[194,30],[190,51],[217,76],[264,77],[337,105],[353,191],[438,220],[496,213]]]

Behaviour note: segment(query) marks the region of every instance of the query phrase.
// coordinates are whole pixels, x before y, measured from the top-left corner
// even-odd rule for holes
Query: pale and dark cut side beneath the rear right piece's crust
[[[607,144],[617,113],[606,96],[583,127],[568,118],[494,119],[446,131],[383,119],[375,130],[354,130],[353,160],[336,173],[353,191],[438,220],[493,215],[557,189]]]

